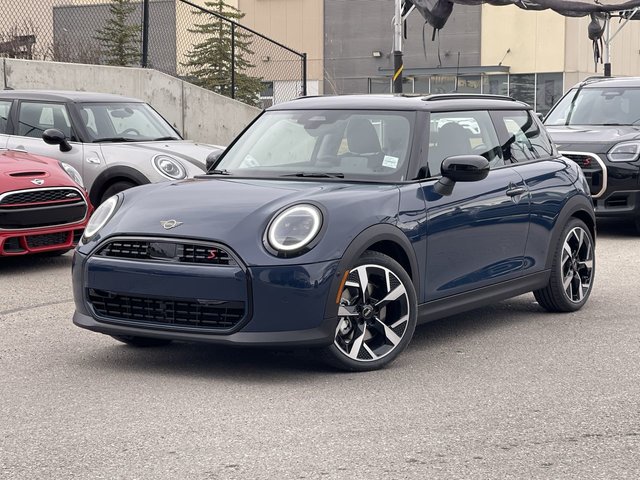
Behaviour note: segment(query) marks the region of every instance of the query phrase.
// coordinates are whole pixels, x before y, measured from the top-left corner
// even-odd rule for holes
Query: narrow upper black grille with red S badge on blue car
[[[135,260],[162,260],[203,265],[237,265],[227,251],[216,245],[170,241],[114,240],[99,255]]]

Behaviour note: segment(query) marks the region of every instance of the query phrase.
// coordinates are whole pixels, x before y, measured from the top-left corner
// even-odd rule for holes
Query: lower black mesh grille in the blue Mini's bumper
[[[89,289],[89,302],[102,317],[161,326],[228,330],[244,316],[244,302],[161,299],[95,289]]]

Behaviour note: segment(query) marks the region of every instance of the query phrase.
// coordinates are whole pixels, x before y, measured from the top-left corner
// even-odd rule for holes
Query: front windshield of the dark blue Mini
[[[289,110],[262,115],[215,166],[260,177],[406,179],[415,112]]]

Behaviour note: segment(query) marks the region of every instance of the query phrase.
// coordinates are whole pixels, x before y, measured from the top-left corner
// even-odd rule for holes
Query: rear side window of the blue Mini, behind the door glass
[[[531,112],[500,111],[495,115],[505,160],[527,162],[553,155],[549,137]]]

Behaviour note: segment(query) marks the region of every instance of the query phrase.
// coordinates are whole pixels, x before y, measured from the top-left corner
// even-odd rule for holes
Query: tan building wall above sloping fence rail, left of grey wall
[[[324,2],[321,0],[238,0],[241,23],[307,54],[308,80],[322,80]]]

